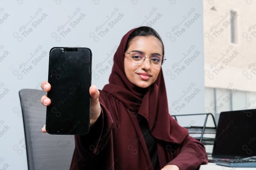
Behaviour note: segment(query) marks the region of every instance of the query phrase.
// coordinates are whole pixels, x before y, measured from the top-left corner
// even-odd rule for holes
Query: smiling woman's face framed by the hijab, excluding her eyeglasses
[[[125,53],[138,51],[151,56],[152,54],[159,54],[162,56],[163,47],[159,39],[154,36],[138,36],[131,40],[129,47]],[[147,88],[153,84],[160,72],[161,66],[153,66],[149,57],[141,64],[135,64],[131,61],[130,55],[124,55],[124,71],[127,79],[134,85]]]

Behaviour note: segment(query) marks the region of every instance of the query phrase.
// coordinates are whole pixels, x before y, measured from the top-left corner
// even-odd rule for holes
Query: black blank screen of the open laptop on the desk
[[[256,156],[256,109],[221,112],[212,157]]]

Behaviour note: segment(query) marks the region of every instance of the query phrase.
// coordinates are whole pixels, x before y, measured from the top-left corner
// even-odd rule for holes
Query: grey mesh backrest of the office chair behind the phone
[[[28,169],[70,169],[75,148],[73,135],[50,135],[41,132],[46,122],[46,107],[40,102],[46,93],[36,89],[22,89],[22,107],[26,139]]]

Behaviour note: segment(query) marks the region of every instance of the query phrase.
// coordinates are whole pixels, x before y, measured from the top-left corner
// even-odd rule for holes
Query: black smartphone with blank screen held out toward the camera
[[[89,88],[92,52],[82,47],[53,47],[49,56],[46,131],[49,134],[84,135],[90,129]]]

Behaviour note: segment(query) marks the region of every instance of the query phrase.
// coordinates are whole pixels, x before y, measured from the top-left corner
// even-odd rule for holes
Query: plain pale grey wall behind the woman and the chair
[[[169,112],[204,112],[202,8],[185,0],[0,1],[0,169],[27,169],[18,91],[40,89],[53,46],[91,48],[92,83],[101,89],[121,37],[151,26],[165,45]]]

